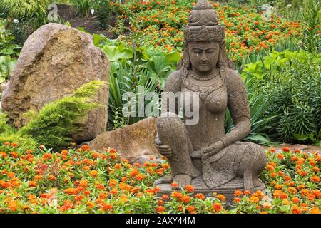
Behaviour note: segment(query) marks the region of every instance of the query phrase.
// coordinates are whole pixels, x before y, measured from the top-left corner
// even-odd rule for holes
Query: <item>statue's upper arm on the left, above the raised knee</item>
[[[175,96],[175,105],[174,103],[170,102],[173,100],[173,95],[181,91],[182,86],[182,77],[181,77],[181,71],[174,71],[173,73],[168,76],[168,80],[165,83],[165,88],[162,93],[162,114],[172,112],[178,115],[178,96]],[[174,110],[172,109],[174,108]]]

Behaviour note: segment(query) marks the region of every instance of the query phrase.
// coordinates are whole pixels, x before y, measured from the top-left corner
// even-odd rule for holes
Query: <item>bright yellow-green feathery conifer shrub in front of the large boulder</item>
[[[55,149],[70,145],[71,134],[82,128],[79,121],[86,118],[89,110],[101,107],[91,102],[91,97],[96,95],[102,86],[106,86],[102,81],[91,81],[78,88],[71,96],[44,105],[39,113],[26,113],[31,120],[19,130],[6,125],[2,115],[0,141],[19,142],[24,145],[24,149],[31,150],[35,145]]]

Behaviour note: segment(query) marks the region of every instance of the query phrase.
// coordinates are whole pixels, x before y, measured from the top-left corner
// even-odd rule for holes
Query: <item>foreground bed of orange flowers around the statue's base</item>
[[[54,153],[5,142],[0,213],[320,213],[320,155],[283,148],[267,150],[267,157],[261,175],[267,192],[236,190],[227,210],[223,195],[192,196],[190,185],[156,197],[153,181],[170,172],[165,160],[131,165],[112,149],[83,145]]]

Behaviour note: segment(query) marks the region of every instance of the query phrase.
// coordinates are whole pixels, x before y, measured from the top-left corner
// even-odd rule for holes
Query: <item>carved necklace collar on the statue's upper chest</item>
[[[220,71],[220,73],[219,73],[220,77],[218,78],[219,80],[215,81],[215,83],[200,86],[200,85],[196,85],[195,83],[189,81],[188,78],[185,76],[185,78],[183,80],[183,85],[185,86],[185,88],[188,88],[188,90],[191,90],[195,93],[199,93],[200,99],[205,101],[205,99],[208,97],[208,95],[210,95],[210,93],[213,93],[215,90],[218,90],[219,88],[221,88],[223,86],[224,81],[225,81],[224,80],[225,74],[222,76],[222,72]],[[190,72],[189,72],[189,74],[190,74]]]

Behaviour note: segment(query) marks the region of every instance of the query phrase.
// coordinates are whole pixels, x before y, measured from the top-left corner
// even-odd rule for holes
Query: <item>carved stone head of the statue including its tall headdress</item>
[[[225,27],[207,0],[199,0],[184,26],[183,70],[207,73],[213,68],[233,68],[226,56]]]

